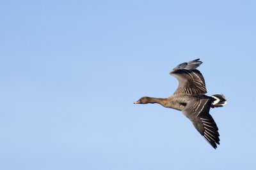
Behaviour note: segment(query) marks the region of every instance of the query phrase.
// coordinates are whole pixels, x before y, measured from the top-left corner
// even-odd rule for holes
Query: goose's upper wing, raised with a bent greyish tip
[[[175,67],[170,74],[179,80],[176,92],[187,94],[205,94],[205,81],[203,75],[196,69],[202,62],[200,59],[184,62]]]

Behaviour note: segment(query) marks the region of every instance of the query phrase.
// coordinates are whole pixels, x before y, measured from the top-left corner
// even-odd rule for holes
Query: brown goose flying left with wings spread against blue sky
[[[141,97],[134,104],[159,103],[166,108],[182,111],[204,139],[216,149],[216,143],[220,145],[220,134],[209,110],[222,107],[227,101],[222,94],[204,95],[207,93],[204,77],[196,69],[200,64],[200,59],[196,59],[179,64],[170,71],[170,74],[179,80],[179,87],[171,97]]]

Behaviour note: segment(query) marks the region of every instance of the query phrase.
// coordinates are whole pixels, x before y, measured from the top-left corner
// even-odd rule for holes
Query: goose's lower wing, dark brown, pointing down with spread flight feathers
[[[220,145],[218,127],[209,114],[211,99],[190,100],[186,103],[182,113],[191,120],[196,130],[214,148]]]

